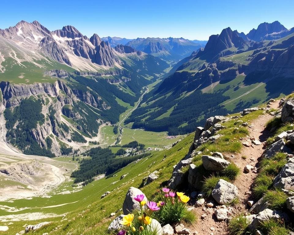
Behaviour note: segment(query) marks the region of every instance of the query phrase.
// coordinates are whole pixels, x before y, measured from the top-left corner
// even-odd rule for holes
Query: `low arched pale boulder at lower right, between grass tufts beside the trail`
[[[268,221],[270,219],[283,219],[285,222],[289,221],[289,217],[286,213],[281,211],[272,211],[270,209],[265,209],[256,215],[256,217],[252,220],[251,224],[248,227],[251,229],[255,229],[258,226],[260,226],[263,222]]]

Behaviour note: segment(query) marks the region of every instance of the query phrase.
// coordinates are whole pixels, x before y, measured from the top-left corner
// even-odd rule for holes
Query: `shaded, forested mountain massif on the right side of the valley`
[[[292,32],[273,22],[262,23],[247,35],[231,28],[211,35],[205,48],[178,62],[175,72],[144,96],[125,123],[183,134],[214,114],[238,112],[291,93]]]

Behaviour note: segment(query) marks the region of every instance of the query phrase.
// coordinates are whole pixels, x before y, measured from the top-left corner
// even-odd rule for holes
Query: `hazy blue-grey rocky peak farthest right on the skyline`
[[[273,23],[264,22],[259,24],[257,29],[253,28],[250,30],[250,32],[247,34],[247,37],[256,42],[260,42],[264,40],[266,35],[284,30],[287,30],[287,28],[285,28],[284,25],[282,25],[279,21],[274,21]]]

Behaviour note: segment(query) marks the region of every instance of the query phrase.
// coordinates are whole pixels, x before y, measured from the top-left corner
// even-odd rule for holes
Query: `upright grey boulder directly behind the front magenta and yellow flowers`
[[[126,198],[123,202],[123,214],[129,214],[134,210],[140,210],[140,204],[134,199],[138,194],[144,195],[144,200],[147,202],[145,194],[138,188],[130,187],[126,193]]]

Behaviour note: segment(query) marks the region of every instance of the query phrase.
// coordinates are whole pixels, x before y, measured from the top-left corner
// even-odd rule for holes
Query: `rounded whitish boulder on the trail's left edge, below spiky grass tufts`
[[[220,179],[212,191],[212,196],[217,203],[222,205],[228,204],[238,196],[238,188],[235,185]]]

